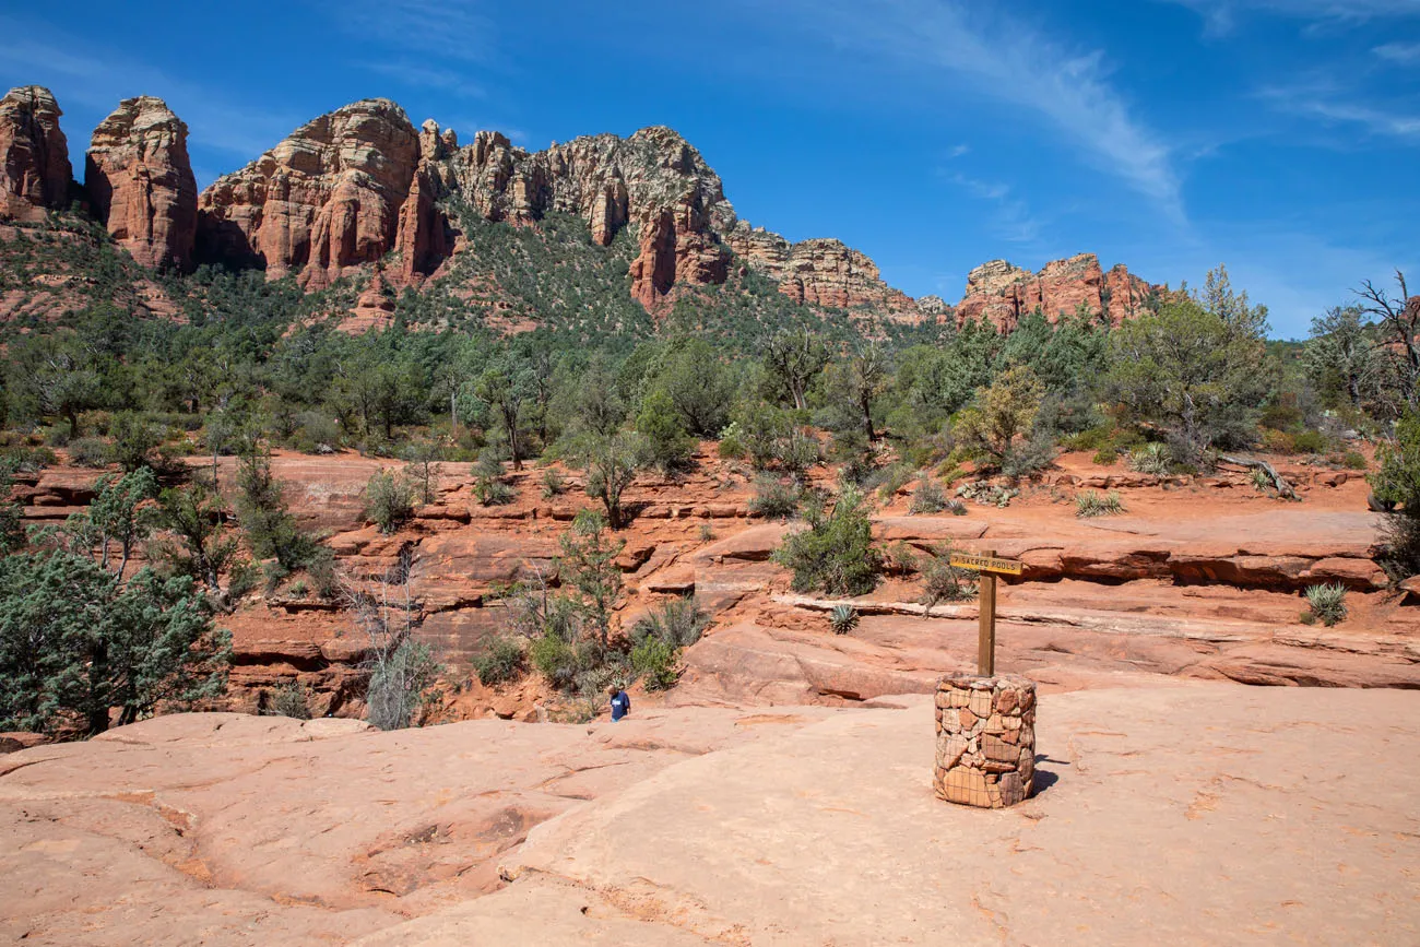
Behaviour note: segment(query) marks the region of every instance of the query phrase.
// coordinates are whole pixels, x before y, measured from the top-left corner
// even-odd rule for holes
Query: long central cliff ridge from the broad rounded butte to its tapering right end
[[[315,119],[200,200],[200,253],[273,277],[327,285],[345,267],[399,251],[390,277],[416,285],[459,247],[457,207],[534,226],[581,217],[599,246],[636,234],[630,292],[660,311],[676,287],[724,283],[734,254],[821,307],[914,312],[865,254],[836,240],[791,244],[736,217],[719,175],[677,132],[589,135],[545,150],[479,132],[459,148],[433,121],[420,131],[392,102],[369,99]]]

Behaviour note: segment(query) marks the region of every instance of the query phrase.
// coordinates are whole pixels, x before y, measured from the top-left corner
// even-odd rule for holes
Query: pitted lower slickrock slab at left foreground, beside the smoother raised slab
[[[497,889],[500,856],[538,822],[826,713],[389,734],[178,714],[13,752],[0,757],[0,938],[346,943]]]

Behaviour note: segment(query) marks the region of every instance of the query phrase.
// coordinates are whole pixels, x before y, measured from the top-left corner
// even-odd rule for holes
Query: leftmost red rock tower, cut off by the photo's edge
[[[21,85],[0,98],[0,217],[36,220],[68,206],[70,145],[50,89]]]

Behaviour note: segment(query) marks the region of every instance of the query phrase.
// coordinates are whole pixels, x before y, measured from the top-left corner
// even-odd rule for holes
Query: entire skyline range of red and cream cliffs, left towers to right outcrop
[[[67,204],[60,114],[40,87],[0,99],[0,216],[34,220]],[[994,260],[971,271],[957,307],[913,301],[838,240],[791,243],[740,220],[719,175],[669,128],[574,138],[540,152],[484,131],[460,148],[452,129],[427,121],[416,131],[388,99],[312,119],[202,195],[186,125],[162,99],[125,99],[94,132],[85,190],[109,234],[143,266],[260,267],[312,290],[381,261],[390,288],[417,287],[460,250],[477,250],[460,231],[467,213],[513,226],[572,214],[604,247],[629,230],[630,295],[652,314],[667,311],[679,290],[726,283],[731,270],[772,280],[809,307],[899,322],[981,318],[1005,331],[1035,310],[1055,322],[1083,308],[1118,325],[1162,288],[1123,266],[1105,273],[1086,253],[1039,273]]]

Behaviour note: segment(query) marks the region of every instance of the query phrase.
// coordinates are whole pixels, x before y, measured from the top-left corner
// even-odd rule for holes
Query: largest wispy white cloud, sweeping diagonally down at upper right
[[[1166,216],[1186,219],[1170,149],[1112,87],[1103,51],[1069,48],[1028,23],[957,0],[795,0],[785,9],[841,50],[926,70],[941,87],[964,81],[1037,116]]]

